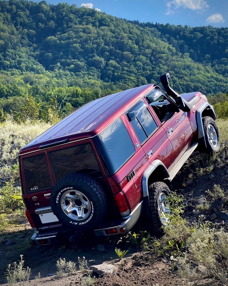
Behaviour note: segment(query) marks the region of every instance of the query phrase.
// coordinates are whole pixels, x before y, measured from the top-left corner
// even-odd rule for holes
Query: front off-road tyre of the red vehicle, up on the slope
[[[203,153],[211,153],[214,154],[219,151],[220,149],[220,136],[219,136],[219,130],[214,122],[213,118],[210,116],[205,116],[202,118],[203,122],[203,131],[204,131],[204,136],[205,136],[205,141],[206,141],[206,146],[200,146],[200,151]],[[211,126],[211,128],[209,128]],[[210,134],[208,133],[208,129],[211,129],[212,132],[210,134],[214,133],[214,139],[210,138]],[[217,141],[217,145],[213,146],[212,142]]]

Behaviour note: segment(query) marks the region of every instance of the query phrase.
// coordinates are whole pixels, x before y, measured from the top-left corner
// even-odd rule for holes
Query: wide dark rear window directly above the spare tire
[[[93,149],[89,143],[49,152],[52,173],[56,181],[82,171],[95,178],[102,176]]]

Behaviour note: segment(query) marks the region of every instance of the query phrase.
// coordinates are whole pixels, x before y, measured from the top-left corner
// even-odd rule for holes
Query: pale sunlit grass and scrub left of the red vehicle
[[[0,124],[1,233],[5,232],[11,223],[16,223],[16,220],[18,222],[26,219],[19,180],[19,150],[50,126],[50,124],[30,122],[19,125],[10,120]]]

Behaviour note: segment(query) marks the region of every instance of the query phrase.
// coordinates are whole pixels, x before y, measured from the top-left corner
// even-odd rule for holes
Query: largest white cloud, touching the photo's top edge
[[[178,9],[179,7],[183,7],[185,9],[190,10],[203,10],[205,8],[208,8],[209,5],[207,5],[207,1],[205,0],[172,0],[172,1],[166,1],[166,15],[173,14],[173,9]]]

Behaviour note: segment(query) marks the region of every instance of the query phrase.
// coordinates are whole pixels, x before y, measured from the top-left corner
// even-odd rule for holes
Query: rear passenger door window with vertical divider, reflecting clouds
[[[141,144],[158,128],[143,101],[129,110],[127,117]]]

